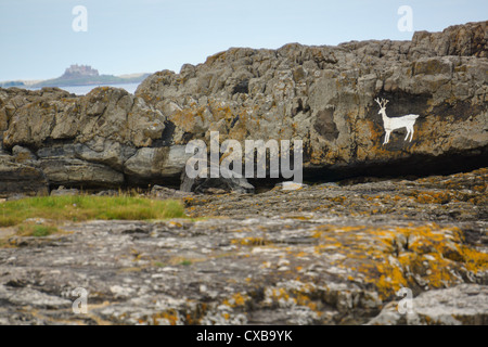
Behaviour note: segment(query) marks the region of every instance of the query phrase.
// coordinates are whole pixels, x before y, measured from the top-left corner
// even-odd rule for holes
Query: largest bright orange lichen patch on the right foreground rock
[[[465,245],[454,227],[322,226],[312,236],[316,254],[334,256],[331,264],[347,268],[347,275],[361,273],[382,299],[402,286],[440,288],[459,283],[465,271],[488,270],[488,255]]]

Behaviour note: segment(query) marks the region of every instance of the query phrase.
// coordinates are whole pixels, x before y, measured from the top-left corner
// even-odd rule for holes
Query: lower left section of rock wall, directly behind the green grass
[[[164,182],[185,163],[182,146],[151,146],[166,118],[123,89],[98,88],[80,98],[56,88],[9,89],[0,100],[3,147],[14,160],[25,157],[24,166],[51,187]]]

